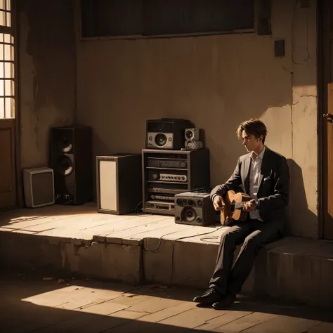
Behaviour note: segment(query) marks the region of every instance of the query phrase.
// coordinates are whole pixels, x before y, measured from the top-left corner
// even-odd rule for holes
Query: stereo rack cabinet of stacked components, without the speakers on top
[[[143,150],[143,211],[174,215],[174,196],[209,187],[209,150]]]

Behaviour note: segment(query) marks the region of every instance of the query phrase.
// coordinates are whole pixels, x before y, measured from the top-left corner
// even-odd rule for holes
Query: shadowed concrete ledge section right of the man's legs
[[[259,256],[253,272],[254,292],[332,307],[333,244],[296,237],[284,242]]]

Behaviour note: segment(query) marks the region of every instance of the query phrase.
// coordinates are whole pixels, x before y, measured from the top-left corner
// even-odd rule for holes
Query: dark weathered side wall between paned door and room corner
[[[74,14],[68,0],[16,2],[23,169],[47,166],[50,127],[74,119]]]

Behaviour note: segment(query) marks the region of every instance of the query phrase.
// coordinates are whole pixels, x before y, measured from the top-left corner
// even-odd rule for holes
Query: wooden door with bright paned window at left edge
[[[11,0],[0,0],[0,211],[17,204]]]

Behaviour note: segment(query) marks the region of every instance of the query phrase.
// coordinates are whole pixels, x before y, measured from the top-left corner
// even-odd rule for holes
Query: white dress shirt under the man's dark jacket
[[[259,176],[265,150],[266,146],[263,147],[263,151],[259,155],[256,155],[255,152],[252,152],[251,155],[251,165],[249,170],[249,195],[252,197],[252,199],[258,199],[257,195],[259,190]],[[259,215],[258,210],[250,211],[249,214],[250,218],[256,218],[259,221],[263,221]]]

